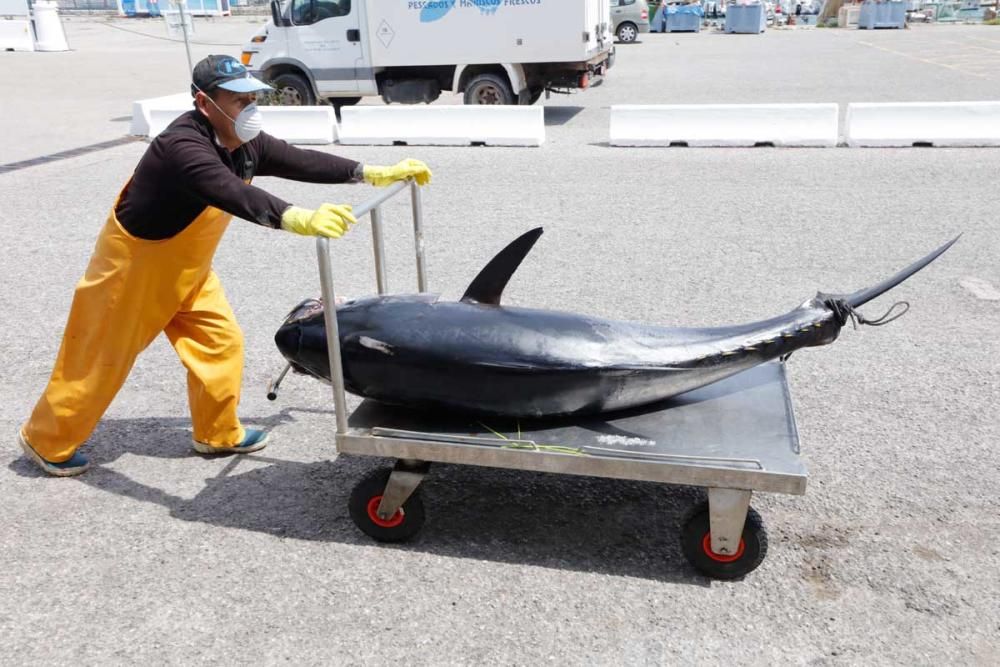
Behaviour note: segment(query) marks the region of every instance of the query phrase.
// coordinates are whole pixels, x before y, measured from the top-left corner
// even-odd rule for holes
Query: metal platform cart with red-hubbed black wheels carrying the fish
[[[355,208],[371,218],[376,284],[388,290],[382,204],[409,188],[416,240],[417,288],[427,290],[421,193],[400,182]],[[329,241],[316,243],[323,302],[335,303]],[[767,534],[750,508],[753,491],[803,494],[807,473],[783,363],[772,362],[666,402],[585,419],[538,421],[433,415],[364,400],[350,415],[344,393],[335,309],[324,309],[340,454],[396,459],[351,493],[358,528],[376,540],[410,539],[424,523],[418,487],[430,464],[513,468],[705,487],[681,534],[683,553],[702,573],[734,579],[755,569]],[[281,379],[269,388],[274,398]]]

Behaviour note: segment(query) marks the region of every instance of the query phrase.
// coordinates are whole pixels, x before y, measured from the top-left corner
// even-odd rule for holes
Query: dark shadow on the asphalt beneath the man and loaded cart
[[[282,442],[280,426],[290,421],[289,410],[247,419],[249,426],[273,429],[274,444],[260,455],[228,458],[197,495],[182,498],[130,479],[108,464],[126,453],[184,458],[190,459],[191,474],[198,475],[206,457],[190,447],[190,422],[105,420],[87,446],[94,467],[76,479],[161,505],[182,521],[292,539],[375,544],[351,521],[347,501],[366,473],[391,461],[346,456],[308,463],[282,460],[282,447],[294,443]],[[22,476],[42,474],[24,457],[10,468]],[[381,548],[708,585],[684,560],[679,545],[680,522],[702,497],[697,489],[438,465],[432,466],[420,492],[428,515],[423,531],[409,543]]]

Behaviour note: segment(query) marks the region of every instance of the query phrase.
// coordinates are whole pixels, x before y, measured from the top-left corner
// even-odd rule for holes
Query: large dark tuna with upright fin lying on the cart
[[[511,417],[637,407],[832,343],[858,317],[854,308],[950,247],[885,281],[881,291],[820,293],[749,324],[671,328],[501,306],[503,287],[540,233],[529,232],[497,255],[460,301],[389,295],[338,306],[347,390],[413,408]],[[322,308],[315,300],[301,304],[275,341],[294,368],[329,379]]]

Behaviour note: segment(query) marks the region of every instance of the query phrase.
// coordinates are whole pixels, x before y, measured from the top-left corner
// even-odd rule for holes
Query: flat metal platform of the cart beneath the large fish
[[[805,493],[785,365],[772,362],[643,409],[515,420],[428,414],[366,400],[347,454]]]

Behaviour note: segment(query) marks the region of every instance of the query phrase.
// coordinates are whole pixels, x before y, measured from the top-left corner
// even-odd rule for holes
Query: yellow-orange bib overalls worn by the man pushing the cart
[[[121,389],[135,358],[162,331],[188,370],[194,439],[219,447],[242,442],[236,407],[243,333],[212,271],[232,216],[210,206],[176,236],[147,241],[125,231],[117,206],[76,287],[52,377],[22,436],[42,458],[68,460]]]

